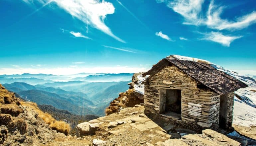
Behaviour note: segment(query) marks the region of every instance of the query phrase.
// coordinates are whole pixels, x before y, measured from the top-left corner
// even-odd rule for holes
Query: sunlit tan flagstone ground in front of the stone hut
[[[191,130],[170,124],[161,128],[144,115],[144,107],[140,105],[136,105],[136,107],[133,108],[125,108],[118,113],[81,123],[78,127],[84,132],[83,134],[91,135],[77,137],[58,134],[54,141],[48,142],[46,145],[239,146],[248,143],[246,139],[238,139],[235,141],[221,133],[209,129],[203,130],[201,134],[196,134]],[[166,131],[172,132],[168,133]],[[185,135],[185,133],[187,135]],[[255,136],[253,133],[250,134]],[[253,145],[252,142],[253,141],[251,141],[251,145]]]

